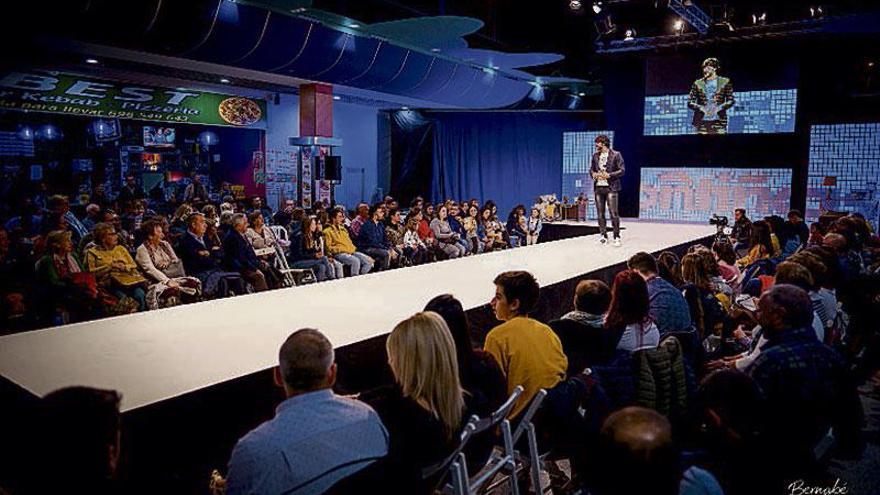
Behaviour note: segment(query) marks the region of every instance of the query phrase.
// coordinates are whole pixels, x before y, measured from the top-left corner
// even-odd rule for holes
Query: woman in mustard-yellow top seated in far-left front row
[[[95,274],[99,287],[107,289],[119,299],[121,305],[112,312],[125,313],[131,309],[143,311],[147,308],[144,286],[147,280],[138,272],[137,264],[131,259],[128,250],[119,245],[116,229],[109,223],[95,225],[95,246],[86,251],[86,267]],[[129,299],[134,304],[127,302]]]

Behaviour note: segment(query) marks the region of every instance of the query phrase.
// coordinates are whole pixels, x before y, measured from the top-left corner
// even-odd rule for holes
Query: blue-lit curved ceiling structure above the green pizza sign
[[[61,15],[73,39],[462,108],[515,105],[543,84],[517,69],[563,58],[468,48],[463,36],[483,24],[466,17],[364,25],[310,0],[72,4]]]

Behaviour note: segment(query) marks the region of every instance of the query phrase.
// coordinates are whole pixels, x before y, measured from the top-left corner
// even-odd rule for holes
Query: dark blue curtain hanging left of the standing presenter
[[[494,200],[499,216],[561,193],[562,133],[595,127],[563,112],[436,112],[431,199]],[[561,197],[560,197],[561,199]]]

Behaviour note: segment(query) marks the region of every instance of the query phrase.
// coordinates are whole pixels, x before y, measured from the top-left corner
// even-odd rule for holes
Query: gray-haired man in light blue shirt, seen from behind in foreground
[[[388,432],[376,412],[331,390],[336,363],[327,337],[297,330],[278,354],[275,382],[287,399],[236,444],[228,495],[324,493],[388,453]]]

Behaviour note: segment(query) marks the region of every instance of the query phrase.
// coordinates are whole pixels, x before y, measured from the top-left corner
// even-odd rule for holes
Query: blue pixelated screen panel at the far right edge
[[[880,123],[814,125],[806,219],[822,213],[858,212],[880,228]]]

